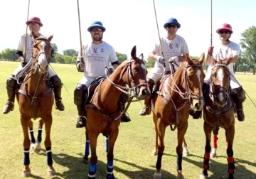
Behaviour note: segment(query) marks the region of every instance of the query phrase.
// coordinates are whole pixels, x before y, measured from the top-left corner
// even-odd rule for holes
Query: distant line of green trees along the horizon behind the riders
[[[256,27],[252,26],[246,29],[242,34],[242,38],[240,39],[240,55],[238,58],[238,62],[235,63],[235,72],[247,72],[252,71],[253,75],[256,73]],[[63,50],[63,55],[58,53],[58,47],[55,43],[51,44],[54,50],[53,58],[51,59],[51,63],[76,63],[78,58],[78,51],[74,49]],[[127,60],[127,55],[123,53],[118,53],[117,58],[119,63],[122,63],[124,60]],[[199,59],[199,57],[191,57]],[[9,61],[16,61],[16,50],[6,48],[2,50],[0,53],[0,59],[9,60]],[[154,61],[150,58],[146,60],[147,67],[153,67]],[[206,64],[203,64],[203,68],[206,69]]]

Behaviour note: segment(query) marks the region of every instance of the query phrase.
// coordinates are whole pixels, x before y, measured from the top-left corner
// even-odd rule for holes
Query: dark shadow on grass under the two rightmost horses
[[[174,156],[172,154],[164,153],[166,156]],[[193,161],[191,158],[201,158],[201,161]],[[212,174],[208,172],[210,179],[221,179],[221,178],[228,178],[228,161],[227,163],[220,163],[218,162],[218,158],[227,158],[226,156],[218,156],[217,158],[210,158],[210,169],[208,170]],[[239,158],[234,158],[235,160],[235,178],[254,178],[256,179],[255,173],[253,173],[251,170],[247,170],[245,165],[252,166],[253,168],[256,167],[256,163],[252,163],[250,161],[245,161]],[[201,171],[203,172],[203,156],[196,156],[193,154],[190,154],[188,157],[183,157],[183,161],[186,161],[188,163],[192,163],[195,166],[198,166],[198,168],[201,168]],[[183,168],[183,170],[186,170]],[[198,173],[200,175],[201,173]]]

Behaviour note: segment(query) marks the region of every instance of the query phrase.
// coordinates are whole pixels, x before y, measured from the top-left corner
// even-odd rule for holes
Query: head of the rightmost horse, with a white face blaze
[[[218,107],[225,107],[228,99],[228,90],[230,89],[230,71],[228,65],[232,58],[216,61],[211,60],[213,68],[210,77],[210,99]]]

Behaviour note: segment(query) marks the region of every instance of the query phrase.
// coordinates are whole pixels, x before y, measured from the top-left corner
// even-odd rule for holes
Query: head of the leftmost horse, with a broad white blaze
[[[50,45],[52,38],[53,36],[49,36],[48,38],[36,38],[33,43],[33,67],[36,67],[36,70],[43,74],[47,72],[50,63],[53,50]]]

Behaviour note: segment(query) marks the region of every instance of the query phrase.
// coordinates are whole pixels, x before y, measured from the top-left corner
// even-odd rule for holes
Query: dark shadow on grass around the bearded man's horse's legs
[[[42,149],[42,152],[38,153],[38,155],[46,156],[46,151]],[[58,165],[63,166],[64,168],[68,168],[69,170],[63,173],[58,173],[58,170],[57,170],[56,175],[53,176],[51,179],[87,178],[89,165],[82,163],[82,158],[83,158],[82,153],[80,153],[80,157],[69,156],[68,154],[65,154],[65,153],[58,153],[58,154],[53,153],[53,166],[55,166],[54,163],[58,163]],[[125,163],[128,166],[137,168],[137,170],[130,171],[130,170],[125,170],[123,168],[114,166],[114,175],[115,173],[122,173],[127,178],[143,178],[143,179],[153,178],[153,175],[155,172],[154,166],[151,166],[152,169],[149,169],[149,168],[138,166],[135,163],[119,160],[117,158],[114,158],[114,162],[115,161],[118,161],[120,163]],[[97,179],[106,178],[106,165],[107,163],[105,162],[97,161],[97,173],[96,173]],[[176,178],[175,175],[171,175],[171,173],[165,170],[162,170],[161,173],[162,173],[163,179],[170,178],[170,177],[171,177],[170,179]],[[116,175],[115,175],[115,178],[117,178]],[[41,179],[41,178],[36,178],[36,179]],[[122,178],[119,178],[119,179],[122,179]]]

